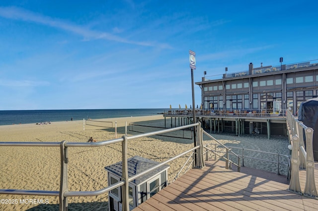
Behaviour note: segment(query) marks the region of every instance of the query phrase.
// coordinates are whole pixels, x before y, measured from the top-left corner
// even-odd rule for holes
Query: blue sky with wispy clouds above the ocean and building
[[[168,108],[194,81],[318,59],[315,0],[2,0],[0,110]],[[195,85],[195,104],[201,90]]]

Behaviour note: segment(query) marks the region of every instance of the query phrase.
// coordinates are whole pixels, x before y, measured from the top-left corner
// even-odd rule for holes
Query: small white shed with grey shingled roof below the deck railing
[[[134,176],[143,172],[159,162],[135,156],[128,158],[128,176]],[[129,208],[134,209],[147,199],[158,193],[162,188],[167,186],[168,168],[169,165],[163,165],[137,179],[129,182]],[[106,166],[108,176],[108,185],[115,184],[121,181],[123,165],[122,161]],[[109,211],[122,210],[122,188],[113,189],[108,194]]]

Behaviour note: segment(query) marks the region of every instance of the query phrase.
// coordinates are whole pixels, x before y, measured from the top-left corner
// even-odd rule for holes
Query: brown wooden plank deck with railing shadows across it
[[[304,190],[306,171],[300,171]],[[318,163],[315,169],[318,184]],[[288,191],[286,176],[241,167],[225,169],[224,161],[206,161],[191,169],[134,211],[317,211],[318,200]]]

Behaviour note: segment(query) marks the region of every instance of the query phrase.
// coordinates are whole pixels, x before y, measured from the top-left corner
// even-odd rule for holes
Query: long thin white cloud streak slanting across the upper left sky
[[[37,14],[18,7],[0,7],[0,16],[13,20],[22,20],[43,24],[46,26],[62,29],[84,37],[84,40],[104,39],[119,43],[133,44],[138,46],[159,47],[162,49],[171,48],[168,44],[160,44],[156,42],[132,41],[107,32],[91,30],[89,28],[78,26],[60,19],[53,19],[48,16]]]

